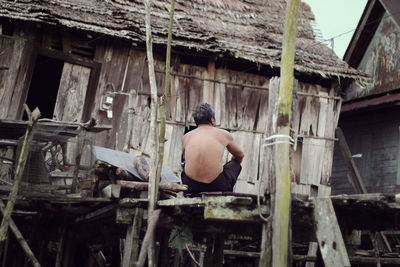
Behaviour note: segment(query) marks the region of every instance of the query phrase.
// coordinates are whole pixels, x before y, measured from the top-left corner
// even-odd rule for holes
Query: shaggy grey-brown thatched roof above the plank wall
[[[145,41],[142,0],[0,0],[0,4],[0,17],[88,30],[133,43]],[[154,44],[166,43],[169,6],[169,0],[153,1]],[[285,6],[285,0],[177,0],[173,46],[279,67]],[[315,41],[313,19],[302,3],[295,69],[323,77],[363,76]]]

